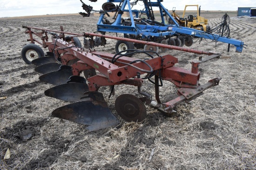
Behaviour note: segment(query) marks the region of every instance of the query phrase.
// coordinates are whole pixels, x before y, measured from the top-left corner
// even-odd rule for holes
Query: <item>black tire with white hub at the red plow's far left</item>
[[[44,57],[44,51],[36,44],[27,44],[21,50],[21,57],[25,63],[32,64],[32,60]]]

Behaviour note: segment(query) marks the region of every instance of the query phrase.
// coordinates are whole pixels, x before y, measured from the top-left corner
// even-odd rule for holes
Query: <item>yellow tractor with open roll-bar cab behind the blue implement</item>
[[[196,6],[197,14],[193,14],[193,12],[191,11],[186,12],[187,6]],[[198,7],[198,5],[185,5],[182,18],[175,13],[175,7],[174,7],[172,11],[172,16],[182,26],[208,32],[210,31],[210,26],[207,25],[208,19],[205,19],[200,16],[200,7],[201,6]],[[169,24],[173,24],[173,23],[169,23]]]

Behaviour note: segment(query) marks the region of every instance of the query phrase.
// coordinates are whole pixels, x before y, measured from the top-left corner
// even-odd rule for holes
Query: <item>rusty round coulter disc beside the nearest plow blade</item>
[[[132,94],[121,94],[115,100],[116,112],[128,122],[141,122],[147,116],[144,103]]]

